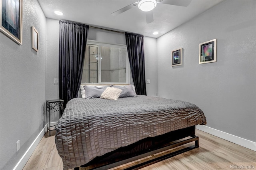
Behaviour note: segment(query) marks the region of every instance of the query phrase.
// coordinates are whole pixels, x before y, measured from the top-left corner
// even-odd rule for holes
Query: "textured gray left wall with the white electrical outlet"
[[[31,47],[31,26],[39,32],[38,52]],[[23,0],[23,45],[0,33],[1,170],[13,169],[46,125],[45,72],[46,19],[36,0]]]

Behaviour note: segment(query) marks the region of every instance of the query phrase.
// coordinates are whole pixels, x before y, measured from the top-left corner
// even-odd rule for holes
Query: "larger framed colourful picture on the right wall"
[[[217,39],[199,44],[199,64],[216,62]]]

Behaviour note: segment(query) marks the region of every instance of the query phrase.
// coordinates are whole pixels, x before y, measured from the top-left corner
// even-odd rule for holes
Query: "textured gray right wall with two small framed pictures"
[[[256,1],[224,1],[157,40],[161,97],[200,107],[208,127],[256,142]],[[198,64],[217,39],[217,62]],[[171,66],[182,47],[183,64]]]

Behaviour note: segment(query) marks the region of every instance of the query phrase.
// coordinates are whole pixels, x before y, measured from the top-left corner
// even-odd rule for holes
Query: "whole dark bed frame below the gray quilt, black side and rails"
[[[120,166],[122,164],[126,164],[132,162],[134,160],[138,160],[141,158],[145,158],[147,156],[157,154],[159,152],[175,148],[177,146],[182,146],[184,144],[188,144],[190,142],[195,142],[194,145],[179,148],[179,150],[171,152],[169,154],[165,154],[164,156],[159,156],[153,158],[151,160],[142,162],[140,164],[136,164],[134,166],[130,166],[125,170],[138,170],[140,168],[149,166],[156,162],[160,162],[167,158],[171,158],[172,156],[176,156],[178,154],[187,152],[194,148],[199,147],[199,138],[195,136],[195,127],[188,127],[179,130],[174,130],[172,132],[168,132],[166,134],[162,134],[160,136],[148,137],[146,139],[135,142],[134,144],[130,144],[125,147],[118,148],[110,153],[104,154],[102,156],[96,157],[87,164],[82,165],[81,167],[94,166],[90,170],[106,170],[109,168],[114,168],[116,166]],[[190,138],[187,138],[189,137]],[[103,164],[101,166],[97,166],[96,164]],[[96,167],[95,167],[96,166]],[[79,168],[74,168],[74,170],[79,170]]]

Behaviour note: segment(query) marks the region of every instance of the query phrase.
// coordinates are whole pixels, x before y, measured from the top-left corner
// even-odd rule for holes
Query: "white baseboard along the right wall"
[[[256,142],[244,139],[244,138],[240,138],[238,136],[234,136],[233,134],[229,134],[226,132],[222,132],[220,130],[214,129],[214,128],[210,128],[204,125],[197,125],[196,128],[198,130],[202,130],[206,133],[212,134],[214,136],[217,136],[219,138],[228,140],[232,143],[238,144],[240,146],[244,146],[245,148],[251,149],[256,151]]]

